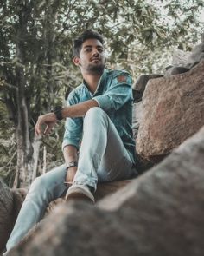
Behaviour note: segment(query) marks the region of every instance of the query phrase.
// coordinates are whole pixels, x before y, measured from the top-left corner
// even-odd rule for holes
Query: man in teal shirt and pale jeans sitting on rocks
[[[47,135],[58,120],[67,118],[62,143],[66,164],[32,183],[7,250],[41,220],[50,201],[67,193],[66,200],[94,203],[98,182],[128,179],[134,173],[131,76],[105,69],[103,43],[103,37],[92,30],[74,41],[73,62],[83,82],[68,96],[67,108],[55,108],[38,118],[36,135]]]

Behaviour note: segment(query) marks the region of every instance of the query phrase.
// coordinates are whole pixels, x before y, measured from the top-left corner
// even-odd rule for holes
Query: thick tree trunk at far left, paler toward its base
[[[29,9],[25,5],[19,13],[19,24],[16,36],[16,142],[17,142],[17,169],[13,187],[28,187],[32,180],[33,147],[29,138],[28,105],[26,97],[27,79],[25,76],[25,56],[23,37],[28,34]]]

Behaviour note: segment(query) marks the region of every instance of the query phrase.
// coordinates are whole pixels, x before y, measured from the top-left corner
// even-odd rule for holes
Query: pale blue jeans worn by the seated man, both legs
[[[74,183],[96,189],[98,182],[128,179],[133,174],[132,161],[112,121],[101,108],[91,108],[84,118],[78,170]],[[55,167],[36,178],[22,204],[6,248],[9,251],[39,222],[49,202],[65,194],[65,165]]]

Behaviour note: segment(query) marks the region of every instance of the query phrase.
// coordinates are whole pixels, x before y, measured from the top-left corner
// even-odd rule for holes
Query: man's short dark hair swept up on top
[[[96,30],[86,30],[80,36],[73,40],[73,56],[80,56],[82,44],[87,39],[97,39],[100,43],[104,44],[104,38]]]

